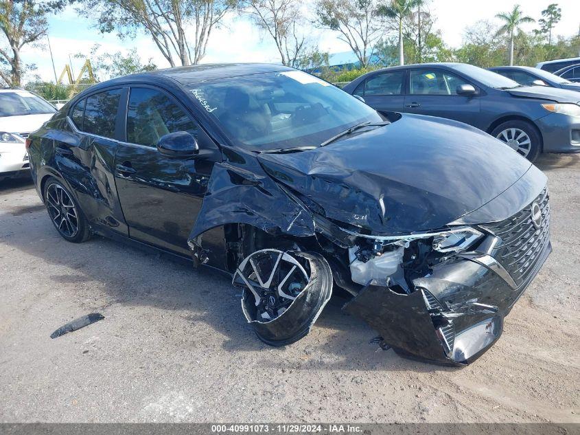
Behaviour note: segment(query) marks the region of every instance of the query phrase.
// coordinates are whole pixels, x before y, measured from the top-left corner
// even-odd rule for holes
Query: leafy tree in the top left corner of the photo
[[[23,47],[46,35],[47,15],[64,5],[64,1],[0,0],[0,79],[8,86],[21,85],[30,68],[22,61]]]

